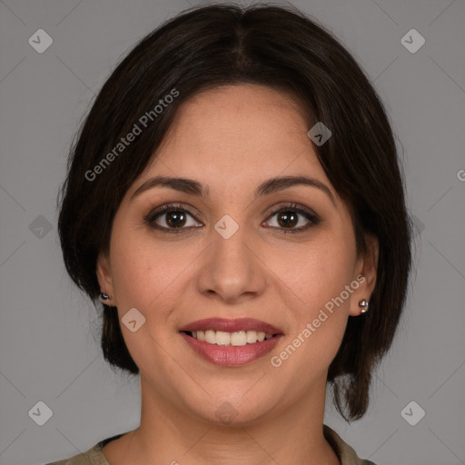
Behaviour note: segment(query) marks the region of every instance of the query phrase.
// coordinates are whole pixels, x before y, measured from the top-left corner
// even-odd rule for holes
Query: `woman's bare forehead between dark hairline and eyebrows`
[[[325,177],[307,136],[300,104],[289,94],[257,84],[217,87],[194,95],[178,110],[156,152],[176,174],[309,170]],[[163,163],[149,169],[163,170]],[[166,166],[165,166],[166,168]],[[172,173],[173,174],[173,173]]]

